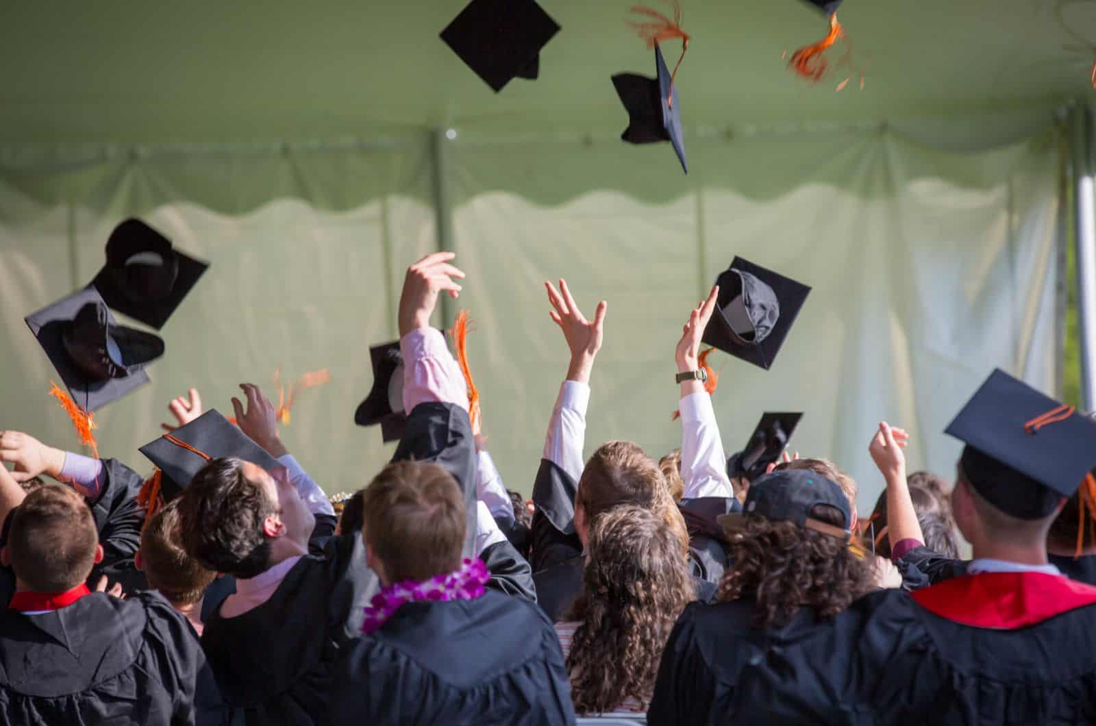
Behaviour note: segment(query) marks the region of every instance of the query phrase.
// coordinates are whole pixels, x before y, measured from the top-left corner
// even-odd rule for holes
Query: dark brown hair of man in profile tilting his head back
[[[215,458],[199,470],[179,503],[183,548],[206,569],[240,579],[270,566],[263,522],[277,512],[259,481],[243,475],[239,458]]]

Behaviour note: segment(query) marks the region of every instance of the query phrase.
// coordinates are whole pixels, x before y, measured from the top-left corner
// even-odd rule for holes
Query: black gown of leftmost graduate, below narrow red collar
[[[212,685],[190,623],[157,593],[92,593],[59,610],[0,612],[0,723],[193,724]],[[198,723],[210,723],[198,718]]]

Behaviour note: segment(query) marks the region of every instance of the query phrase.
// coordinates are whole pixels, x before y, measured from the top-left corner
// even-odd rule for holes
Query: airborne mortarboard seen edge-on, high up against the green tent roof
[[[685,141],[682,138],[681,99],[672,81],[662,50],[654,46],[654,69],[658,78],[638,73],[617,73],[613,86],[628,111],[628,128],[620,138],[629,144],[670,141],[688,173],[685,161]]]

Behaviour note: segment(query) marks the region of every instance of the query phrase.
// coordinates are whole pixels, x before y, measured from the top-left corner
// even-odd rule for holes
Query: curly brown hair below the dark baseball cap
[[[810,515],[845,526],[842,513],[826,504],[817,504]],[[792,522],[747,517],[732,533],[728,559],[733,565],[719,586],[719,599],[753,597],[757,627],[786,625],[802,605],[831,617],[875,587],[869,558],[843,540]]]

